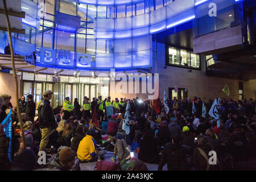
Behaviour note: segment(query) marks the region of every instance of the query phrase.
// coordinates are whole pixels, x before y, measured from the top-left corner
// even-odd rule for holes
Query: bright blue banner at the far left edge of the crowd
[[[13,131],[12,130],[13,122],[11,122],[11,110],[10,110],[9,114],[7,115],[7,117],[1,123],[1,125],[3,125],[3,131],[5,131],[6,137],[10,138],[8,156],[9,156],[9,160],[11,162],[11,138],[12,138],[12,131]]]

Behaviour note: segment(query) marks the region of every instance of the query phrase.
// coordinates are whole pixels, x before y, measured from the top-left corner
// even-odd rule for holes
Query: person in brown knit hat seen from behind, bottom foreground
[[[49,163],[49,171],[80,171],[79,160],[75,152],[70,148],[63,148],[59,152],[59,158],[53,159]]]

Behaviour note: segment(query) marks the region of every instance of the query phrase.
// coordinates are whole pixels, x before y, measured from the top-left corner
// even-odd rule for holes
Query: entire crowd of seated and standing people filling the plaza
[[[56,154],[46,166],[49,170],[80,170],[81,163],[97,162],[96,168],[117,170],[147,170],[146,164],[158,165],[162,170],[223,171],[256,169],[256,113],[255,101],[235,101],[221,98],[218,109],[220,127],[208,114],[213,100],[204,101],[207,114],[203,117],[200,98],[168,100],[168,113],[160,101],[156,113],[150,100],[101,96],[92,102],[85,97],[81,107],[77,100],[72,105],[66,98],[62,107],[53,112],[51,90],[43,93],[38,107],[31,95],[22,97],[22,115],[26,147],[21,142],[20,125],[11,97],[0,94],[0,123],[13,110],[11,161],[8,158],[10,138],[0,124],[1,170],[33,170],[39,168],[39,152]],[[192,113],[193,102],[196,111]],[[129,134],[123,130],[126,106],[129,104]],[[109,114],[107,107],[113,108]],[[79,109],[77,109],[79,108]],[[35,110],[38,110],[38,118]],[[94,112],[97,117],[93,117]],[[36,119],[34,119],[36,118]],[[110,161],[104,156],[113,152]],[[135,155],[134,153],[137,153]],[[216,154],[213,164],[209,161]],[[30,155],[30,159],[27,158]],[[137,156],[137,157],[136,157]],[[27,161],[30,160],[30,161]],[[99,163],[99,164],[98,164]],[[101,164],[101,165],[100,165]],[[113,166],[117,165],[117,166]]]

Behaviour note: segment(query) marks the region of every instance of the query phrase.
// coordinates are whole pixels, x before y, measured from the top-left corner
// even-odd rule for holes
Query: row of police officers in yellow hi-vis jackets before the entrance
[[[89,102],[89,98],[85,96],[82,106],[82,117],[84,119],[91,118],[94,113],[94,109],[96,108],[97,119],[103,121],[104,115],[106,115],[106,108],[108,106],[113,106],[113,112],[119,113],[123,109],[124,105],[125,101],[123,101],[123,98],[121,98],[120,102],[118,98],[115,98],[115,101],[111,101],[111,97],[108,97],[108,99],[105,98],[105,100],[102,101],[102,96],[99,96],[98,99],[93,98],[93,101]],[[69,119],[69,117],[71,117],[73,108],[74,106],[69,101],[69,97],[66,97],[63,104],[63,119]]]

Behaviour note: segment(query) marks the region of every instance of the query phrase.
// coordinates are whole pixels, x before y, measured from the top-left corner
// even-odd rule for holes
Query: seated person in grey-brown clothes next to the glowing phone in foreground
[[[118,154],[118,162],[121,162],[123,158],[126,158],[130,155],[131,148],[125,142],[125,139],[117,139],[115,142],[114,147],[114,155],[110,159],[111,162],[117,161],[117,154]]]

